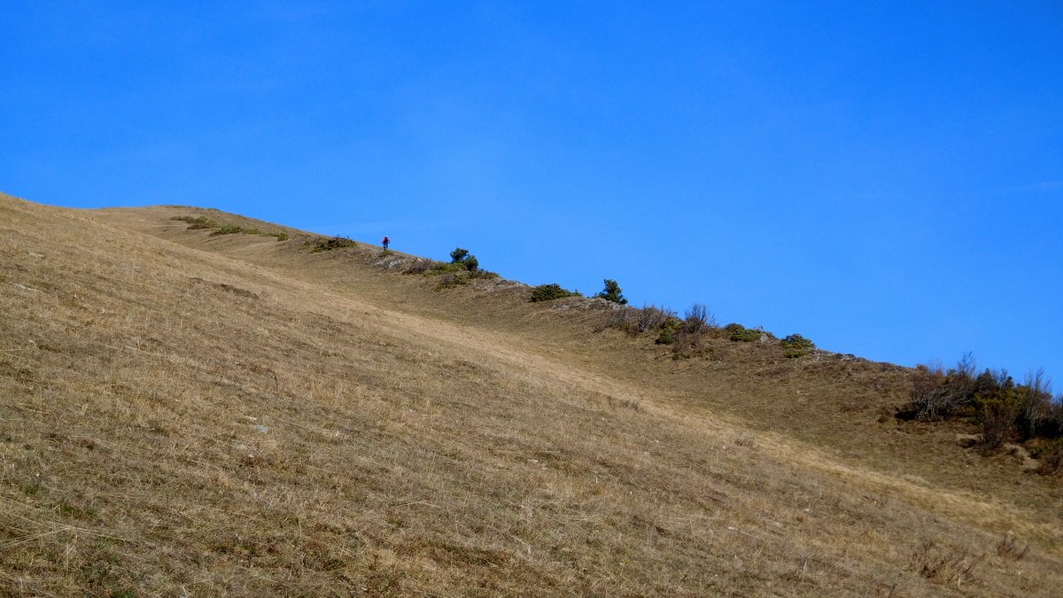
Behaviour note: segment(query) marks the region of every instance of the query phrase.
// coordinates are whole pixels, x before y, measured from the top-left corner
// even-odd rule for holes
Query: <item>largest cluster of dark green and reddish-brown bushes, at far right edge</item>
[[[969,353],[947,371],[919,365],[909,403],[897,415],[969,421],[980,428],[986,453],[1005,443],[1023,443],[1042,459],[1043,472],[1063,467],[1063,396],[1052,397],[1043,371],[1017,384],[1005,370],[978,372]]]

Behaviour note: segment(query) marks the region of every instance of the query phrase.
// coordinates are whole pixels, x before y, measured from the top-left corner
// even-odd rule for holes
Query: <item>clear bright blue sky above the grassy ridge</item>
[[[0,190],[1063,391],[1063,4],[0,0]]]

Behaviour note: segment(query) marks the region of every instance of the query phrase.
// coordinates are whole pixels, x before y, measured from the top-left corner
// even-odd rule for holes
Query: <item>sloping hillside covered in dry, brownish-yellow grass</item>
[[[1059,480],[898,423],[904,368],[677,361],[602,301],[315,238],[0,196],[0,592],[1063,586]]]

